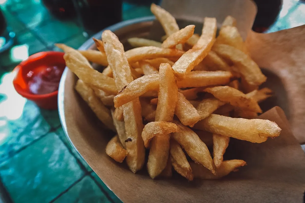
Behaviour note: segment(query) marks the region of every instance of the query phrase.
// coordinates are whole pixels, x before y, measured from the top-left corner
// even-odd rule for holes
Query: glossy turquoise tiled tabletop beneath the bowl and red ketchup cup
[[[305,24],[302,2],[284,0],[267,32]],[[77,20],[56,19],[40,0],[0,1],[0,8],[16,33],[14,46],[0,54],[0,202],[120,202],[71,147],[57,110],[40,109],[12,84],[11,71],[29,55],[60,51],[54,43],[78,48],[93,33]],[[123,20],[149,15],[147,5],[123,3]]]

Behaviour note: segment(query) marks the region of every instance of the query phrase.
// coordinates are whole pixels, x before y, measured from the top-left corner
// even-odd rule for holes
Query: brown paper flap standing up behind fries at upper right
[[[264,86],[275,93],[276,100],[269,100],[268,107],[280,106],[300,144],[305,143],[305,25],[255,33],[251,27],[257,8],[250,0],[163,0],[162,7],[178,19],[197,22],[206,16],[215,17],[218,23],[227,15],[235,17],[251,57],[269,77]]]

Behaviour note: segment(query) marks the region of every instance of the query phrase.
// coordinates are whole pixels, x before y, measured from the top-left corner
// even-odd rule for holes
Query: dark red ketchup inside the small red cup
[[[38,67],[27,73],[28,88],[32,94],[48,94],[58,90],[63,69],[58,66]]]

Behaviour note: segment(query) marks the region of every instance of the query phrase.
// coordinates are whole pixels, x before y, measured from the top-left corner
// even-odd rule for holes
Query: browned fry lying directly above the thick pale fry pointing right
[[[234,107],[262,113],[258,103],[241,91],[230,86],[209,87],[203,91],[213,94],[217,99],[230,103]]]

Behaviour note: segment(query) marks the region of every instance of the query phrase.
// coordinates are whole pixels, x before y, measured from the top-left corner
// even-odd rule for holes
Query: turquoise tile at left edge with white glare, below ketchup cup
[[[50,131],[50,125],[40,115],[39,108],[33,102],[27,101],[22,107],[22,98],[13,102],[10,96],[2,95],[4,95],[0,101],[0,110],[2,112],[4,109],[1,107],[5,108],[7,105],[5,103],[12,102],[16,106],[15,108],[7,109],[8,114],[0,118],[0,163]],[[17,104],[20,106],[17,106]],[[20,114],[21,111],[22,114]],[[20,114],[20,117],[8,118],[15,116],[13,114]]]

